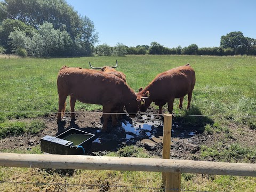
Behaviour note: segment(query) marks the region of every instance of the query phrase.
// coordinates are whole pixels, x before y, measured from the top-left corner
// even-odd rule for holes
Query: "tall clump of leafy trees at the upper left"
[[[0,2],[0,52],[35,57],[92,55],[94,23],[65,0]]]

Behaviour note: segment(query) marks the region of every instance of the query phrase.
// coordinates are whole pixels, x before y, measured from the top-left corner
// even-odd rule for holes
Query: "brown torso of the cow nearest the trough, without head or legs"
[[[84,103],[102,105],[115,95],[121,99],[120,90],[127,89],[125,82],[116,76],[93,69],[62,67],[57,78],[59,95],[72,95]]]

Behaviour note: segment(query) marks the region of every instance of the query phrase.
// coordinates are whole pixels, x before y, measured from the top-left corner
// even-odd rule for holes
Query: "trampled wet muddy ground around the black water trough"
[[[7,137],[0,140],[0,151],[3,149],[25,149],[41,143],[41,138],[45,135],[56,137],[62,132],[74,127],[76,129],[94,134],[89,155],[104,155],[108,151],[116,151],[126,145],[137,145],[144,147],[150,154],[161,157],[163,148],[163,116],[150,115],[158,114],[158,110],[150,107],[146,113],[138,114],[136,118],[129,118],[123,115],[118,121],[117,127],[111,127],[111,120],[108,122],[107,132],[102,132],[102,111],[92,111],[87,113],[77,113],[76,121],[70,122],[70,114],[66,114],[65,122],[57,124],[56,115],[51,114],[41,118],[46,129],[42,132],[31,135],[23,134],[15,137]],[[214,143],[222,141],[222,147],[228,147],[231,143],[241,143],[243,146],[256,145],[256,131],[248,129],[245,125],[230,123],[229,133],[204,134],[204,125],[200,127],[184,126],[182,117],[173,118],[172,122],[172,143],[171,158],[173,159],[198,159],[201,145],[213,146]],[[209,119],[209,123],[213,123]],[[228,135],[228,136],[227,136]],[[207,161],[214,161],[209,158]]]

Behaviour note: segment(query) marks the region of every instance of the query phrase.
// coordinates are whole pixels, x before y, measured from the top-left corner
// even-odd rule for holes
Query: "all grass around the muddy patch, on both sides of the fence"
[[[56,58],[56,59],[35,59],[35,58],[4,58],[0,57],[0,139],[10,134],[32,133],[40,131],[42,122],[19,122],[22,118],[35,118],[45,116],[58,111],[58,93],[56,79],[59,69],[63,66],[90,68],[89,61],[95,67],[114,66],[118,61],[117,70],[126,75],[127,83],[138,91],[145,87],[151,80],[162,71],[190,63],[196,72],[196,85],[191,101],[191,110],[179,110],[178,100],[174,103],[174,113],[178,115],[205,115],[211,118],[214,125],[205,127],[205,131],[225,132],[227,124],[242,124],[256,131],[256,58],[253,57],[199,57],[199,56],[170,56],[170,55],[143,55],[127,57],[83,57],[83,58]],[[184,100],[187,105],[187,98]],[[67,105],[69,110],[69,105]],[[76,111],[101,109],[101,106],[76,103]],[[166,106],[164,107],[166,110]],[[186,117],[190,124],[196,126],[200,122]],[[195,121],[194,121],[195,120]],[[201,119],[202,120],[202,119]],[[40,124],[40,126],[38,126]],[[215,127],[215,128],[214,128]],[[218,128],[218,129],[216,129]],[[203,148],[203,156],[213,153],[214,147],[219,147],[220,142],[212,148]],[[256,146],[251,146],[256,148]],[[241,151],[242,149],[234,148]],[[39,153],[35,150],[35,153]],[[230,152],[230,151],[229,151]],[[252,158],[255,158],[255,150],[250,151]],[[216,154],[214,154],[216,155]],[[221,154],[220,161],[223,160]],[[241,158],[241,156],[239,156]],[[243,162],[243,159],[241,160]],[[233,159],[233,162],[241,162]],[[19,178],[20,175],[28,175],[28,169],[0,169],[0,180],[10,177]],[[14,173],[15,172],[15,173]],[[42,170],[35,171],[36,174],[45,174],[47,181],[58,182],[57,173],[42,173]],[[14,174],[14,175],[13,175]],[[133,172],[109,172],[97,171],[76,171],[74,178],[63,176],[65,180],[74,182],[75,177],[97,177],[100,182],[115,180],[116,185],[147,185],[159,187],[159,173],[139,173],[135,176]],[[145,174],[149,179],[143,179]],[[36,175],[36,176],[35,176]],[[95,176],[97,175],[97,176]],[[106,177],[108,175],[109,178]],[[182,189],[211,190],[215,186],[217,191],[254,191],[256,179],[248,177],[209,176],[182,174]],[[135,181],[131,181],[136,178]],[[55,178],[55,179],[53,179]],[[57,180],[56,180],[57,179]],[[122,180],[122,183],[121,181]],[[83,182],[83,180],[81,180]],[[1,186],[0,186],[1,187]],[[128,191],[128,190],[127,190]]]

